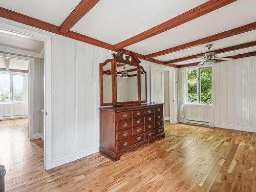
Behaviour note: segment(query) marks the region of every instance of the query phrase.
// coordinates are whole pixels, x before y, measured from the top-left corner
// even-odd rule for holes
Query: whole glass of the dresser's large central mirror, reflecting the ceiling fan
[[[117,102],[138,101],[137,66],[117,63],[116,87]]]

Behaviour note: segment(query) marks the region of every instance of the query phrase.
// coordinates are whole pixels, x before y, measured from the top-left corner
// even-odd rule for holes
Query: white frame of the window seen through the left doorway
[[[18,72],[4,72],[1,71],[0,74],[10,75],[10,100],[8,102],[0,102],[0,104],[12,104],[12,103],[25,103],[25,74]],[[13,75],[23,76],[23,101],[13,101]]]

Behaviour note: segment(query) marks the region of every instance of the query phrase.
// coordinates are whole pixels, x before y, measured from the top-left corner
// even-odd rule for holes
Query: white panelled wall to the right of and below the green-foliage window
[[[185,119],[256,132],[256,56],[215,65],[215,108],[185,106]]]

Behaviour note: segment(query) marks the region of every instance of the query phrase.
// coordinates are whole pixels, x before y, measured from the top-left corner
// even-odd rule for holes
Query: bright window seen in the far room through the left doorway
[[[0,103],[24,102],[24,75],[0,73]]]

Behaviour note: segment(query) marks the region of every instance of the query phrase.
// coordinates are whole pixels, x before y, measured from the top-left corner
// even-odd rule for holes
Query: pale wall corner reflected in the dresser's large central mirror
[[[137,76],[122,78],[117,77],[117,102],[138,100]]]

